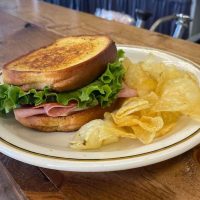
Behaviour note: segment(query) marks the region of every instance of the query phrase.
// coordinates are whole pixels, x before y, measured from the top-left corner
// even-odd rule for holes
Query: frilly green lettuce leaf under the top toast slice
[[[67,105],[73,100],[78,103],[80,108],[98,104],[101,107],[109,106],[117,98],[117,94],[122,88],[122,79],[125,73],[121,62],[123,57],[124,52],[119,50],[116,61],[108,63],[106,71],[96,81],[70,92],[55,93],[47,87],[41,91],[31,89],[24,92],[18,86],[1,84],[0,115],[5,115],[23,105],[37,106],[47,102]]]

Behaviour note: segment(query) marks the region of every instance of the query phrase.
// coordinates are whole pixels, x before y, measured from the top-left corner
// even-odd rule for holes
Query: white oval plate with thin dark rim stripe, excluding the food
[[[159,60],[190,71],[200,80],[198,66],[177,55],[137,46],[119,48],[136,62],[153,53]],[[199,123],[182,118],[171,134],[149,145],[124,139],[95,151],[75,151],[68,146],[74,133],[44,134],[21,126],[14,119],[0,119],[0,151],[23,162],[53,169],[121,170],[152,164],[185,152],[200,142],[199,128]]]

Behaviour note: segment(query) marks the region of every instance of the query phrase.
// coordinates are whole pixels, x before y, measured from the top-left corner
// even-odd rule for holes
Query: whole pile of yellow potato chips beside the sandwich
[[[167,134],[182,115],[200,121],[200,87],[193,74],[166,66],[153,55],[140,63],[125,58],[123,64],[124,81],[138,96],[127,98],[113,113],[105,113],[104,120],[84,125],[72,148],[100,148],[122,137],[148,144]]]

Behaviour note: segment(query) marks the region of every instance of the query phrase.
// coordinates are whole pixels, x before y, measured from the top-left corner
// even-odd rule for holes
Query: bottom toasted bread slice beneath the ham
[[[67,117],[36,115],[26,118],[16,118],[16,120],[26,127],[43,132],[75,131],[93,119],[103,118],[105,112],[113,111],[117,105],[118,102],[115,102],[112,106],[104,109],[100,106],[95,106],[87,110],[76,112]]]

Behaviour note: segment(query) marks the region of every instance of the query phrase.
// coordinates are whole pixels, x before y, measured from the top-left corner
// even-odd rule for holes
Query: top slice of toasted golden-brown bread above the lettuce
[[[5,83],[24,90],[68,91],[87,85],[100,76],[117,50],[107,36],[71,36],[24,55],[3,68]]]

